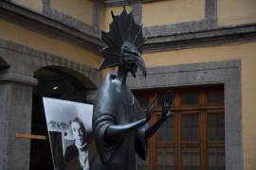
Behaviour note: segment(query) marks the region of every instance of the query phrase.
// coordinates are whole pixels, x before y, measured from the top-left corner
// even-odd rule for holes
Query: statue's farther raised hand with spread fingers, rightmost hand
[[[170,117],[172,114],[172,112],[170,110],[170,106],[173,103],[173,98],[174,98],[174,91],[170,91],[167,93],[166,97],[163,99],[162,115],[161,115],[162,121],[165,121],[166,119],[168,119],[168,117]]]

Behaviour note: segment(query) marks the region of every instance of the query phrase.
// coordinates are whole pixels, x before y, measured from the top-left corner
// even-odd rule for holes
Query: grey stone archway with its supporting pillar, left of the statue
[[[15,138],[31,133],[34,73],[42,68],[71,76],[85,89],[97,89],[101,72],[80,62],[48,54],[28,46],[1,40],[0,45],[0,167],[29,169],[30,140]]]

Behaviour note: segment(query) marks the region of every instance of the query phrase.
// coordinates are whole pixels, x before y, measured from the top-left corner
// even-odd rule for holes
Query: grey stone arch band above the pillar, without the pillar
[[[37,80],[32,77],[34,72],[47,67],[80,79],[87,89],[96,89],[101,84],[101,73],[97,68],[38,51],[23,44],[0,39],[0,53],[2,54],[0,59],[5,59],[10,65],[8,70],[1,72],[0,81],[21,81],[22,83],[24,81],[23,84],[33,86],[37,83]]]

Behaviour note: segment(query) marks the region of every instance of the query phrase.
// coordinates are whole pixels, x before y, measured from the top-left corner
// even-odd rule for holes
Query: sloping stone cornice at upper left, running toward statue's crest
[[[82,31],[75,27],[64,25],[46,15],[14,5],[8,1],[0,2],[0,18],[45,34],[46,36],[74,43],[97,54],[103,46],[99,28],[89,27],[87,29],[88,32],[85,29]],[[69,16],[68,18],[72,19]]]

